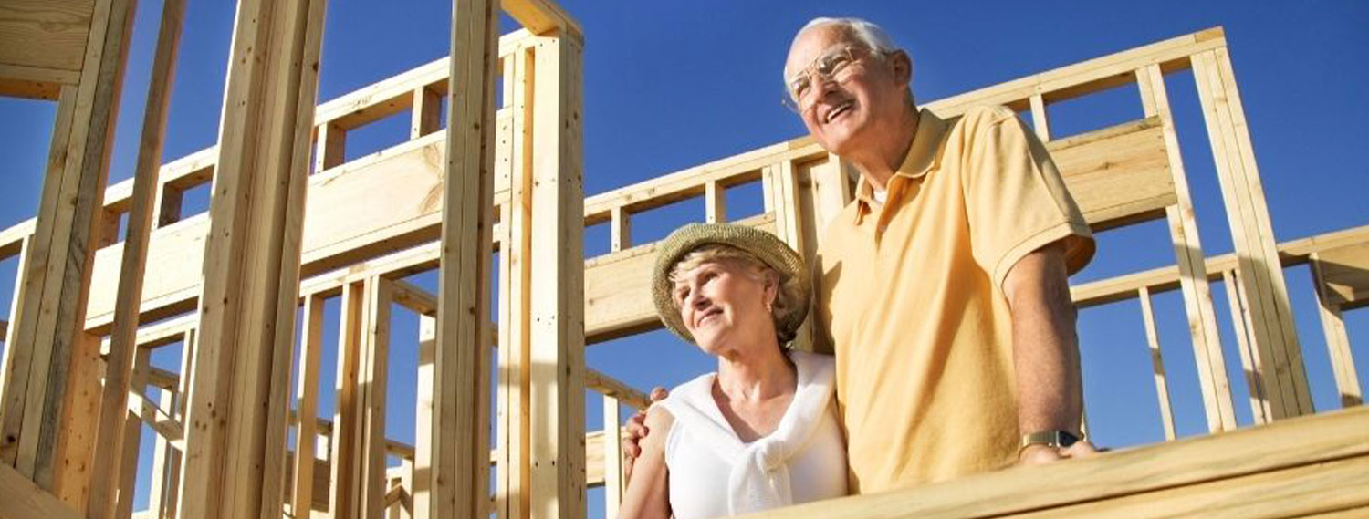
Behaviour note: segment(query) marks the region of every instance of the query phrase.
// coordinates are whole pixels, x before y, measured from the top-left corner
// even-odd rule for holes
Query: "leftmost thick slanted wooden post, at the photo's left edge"
[[[0,403],[0,463],[84,509],[99,412],[99,341],[85,333],[133,0],[96,4],[78,85],[62,86],[23,300]]]

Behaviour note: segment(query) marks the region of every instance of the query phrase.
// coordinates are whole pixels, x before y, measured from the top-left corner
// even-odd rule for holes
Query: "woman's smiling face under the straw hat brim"
[[[705,353],[723,355],[741,345],[773,341],[775,322],[767,303],[775,299],[776,286],[767,279],[728,260],[704,262],[679,273],[672,297],[684,329]]]

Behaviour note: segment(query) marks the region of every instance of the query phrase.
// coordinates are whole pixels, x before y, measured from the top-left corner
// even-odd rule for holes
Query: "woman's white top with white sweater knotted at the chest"
[[[716,372],[671,390],[658,404],[675,416],[665,438],[671,511],[720,518],[846,496],[846,444],[832,398],[834,360],[790,352],[794,400],[779,427],[743,444],[713,400]]]

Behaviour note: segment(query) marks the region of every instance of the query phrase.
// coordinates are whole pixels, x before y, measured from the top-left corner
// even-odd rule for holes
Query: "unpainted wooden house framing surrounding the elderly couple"
[[[575,519],[589,486],[605,489],[615,516],[622,405],[648,398],[587,368],[585,348],[660,327],[646,290],[654,244],[634,242],[634,215],[702,199],[693,219],[757,226],[813,257],[820,229],[852,200],[850,167],[808,138],[586,197],[583,34],[546,0],[456,0],[449,58],[315,105],[324,4],[240,0],[218,145],[159,164],[185,12],[166,0],[137,171],[105,188],[134,1],[0,3],[0,94],[57,103],[38,215],[0,231],[0,259],[21,264],[0,322],[0,518]],[[501,8],[523,29],[498,36]],[[34,33],[41,25],[29,22],[45,16],[88,23]],[[1199,242],[1165,82],[1181,70],[1202,104],[1231,255],[1209,257]],[[1142,119],[1051,134],[1053,103],[1123,85],[1136,86]],[[444,97],[457,122],[448,127]],[[1064,494],[1023,493],[1047,475],[1017,470],[794,514],[1127,515],[1147,500],[1188,507],[1287,481],[1335,500],[1275,498],[1280,514],[1365,511],[1369,496],[1327,482],[1364,479],[1369,418],[1298,418],[1314,409],[1283,270],[1312,268],[1342,404],[1358,405],[1340,315],[1369,304],[1369,227],[1275,241],[1221,29],[927,107],[954,118],[980,104],[1032,121],[1095,231],[1166,222],[1175,266],[1072,288],[1080,308],[1139,300],[1166,438],[1175,418],[1151,297],[1168,290],[1183,297],[1207,429],[1236,429],[1214,282],[1228,294],[1247,404],[1268,427],[1049,468],[1091,481]],[[408,141],[344,160],[348,131],[405,111]],[[183,193],[204,185],[208,212],[183,214]],[[743,185],[760,185],[763,211],[730,218],[727,193]],[[609,252],[586,259],[594,225],[608,225]],[[435,293],[408,279],[433,270]],[[319,397],[331,300],[341,319],[329,412]],[[392,344],[393,305],[419,315],[418,344]],[[178,372],[149,360],[171,345]],[[387,393],[396,348],[419,359],[412,403]],[[598,431],[586,433],[585,389],[602,397]],[[385,434],[400,404],[413,405],[413,445]],[[152,493],[134,511],[144,425],[155,434]],[[1266,446],[1298,435],[1317,441]],[[1123,468],[1136,464],[1155,478]],[[1014,505],[957,497],[980,492]]]

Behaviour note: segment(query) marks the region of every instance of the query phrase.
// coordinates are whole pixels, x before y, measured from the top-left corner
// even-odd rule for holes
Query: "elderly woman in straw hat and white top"
[[[846,494],[832,359],[789,348],[808,315],[798,255],[737,225],[689,225],[660,246],[656,311],[717,371],[646,412],[619,518],[717,518]]]

